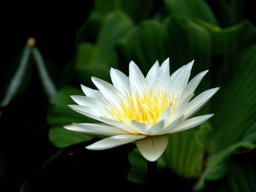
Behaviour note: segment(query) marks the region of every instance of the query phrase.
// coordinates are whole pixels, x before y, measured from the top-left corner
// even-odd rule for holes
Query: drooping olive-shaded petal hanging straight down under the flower
[[[144,139],[136,140],[138,150],[148,161],[157,161],[164,153],[167,143],[166,135],[148,136]]]

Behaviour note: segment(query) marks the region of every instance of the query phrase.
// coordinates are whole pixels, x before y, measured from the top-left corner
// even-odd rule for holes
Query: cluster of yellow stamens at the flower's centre
[[[113,119],[127,124],[130,120],[136,120],[138,123],[154,125],[162,112],[173,103],[173,99],[165,91],[153,93],[150,89],[142,95],[136,93],[135,96],[130,96],[127,93],[127,101],[121,99],[121,103],[121,109],[108,105]]]

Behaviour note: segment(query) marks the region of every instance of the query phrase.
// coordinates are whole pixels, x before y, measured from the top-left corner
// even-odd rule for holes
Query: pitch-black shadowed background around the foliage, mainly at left
[[[161,7],[161,4],[162,1],[157,6]],[[216,15],[222,18],[223,12],[219,9],[219,4],[215,1],[208,1],[208,4],[213,10],[218,10]],[[67,84],[66,80],[71,79],[73,74],[65,73],[64,69],[68,70],[70,61],[74,59],[78,43],[75,36],[93,7],[94,1],[83,1],[83,4],[61,2],[58,5],[38,2],[25,6],[23,4],[22,7],[13,4],[2,7],[5,10],[4,22],[1,23],[4,34],[1,35],[0,96],[4,95],[4,88],[10,81],[17,66],[16,61],[29,37],[36,39],[36,45],[47,61],[57,88]],[[247,19],[255,26],[255,7],[252,6],[252,1],[246,1],[240,10],[236,22]],[[220,26],[227,27],[225,20],[220,20]],[[89,41],[94,42],[94,37]],[[90,186],[95,190],[114,190],[116,183],[126,185],[127,189],[136,187],[143,190],[141,186],[126,180],[130,168],[127,153],[135,147],[132,144],[117,147],[110,151],[112,155],[106,151],[91,155],[94,152],[85,154],[78,150],[88,144],[75,148],[71,146],[59,152],[64,155],[65,161],[62,164],[53,159],[47,165],[50,169],[41,169],[59,149],[48,140],[46,116],[49,100],[41,88],[37,70],[34,67],[31,70],[31,77],[28,77],[28,84],[23,91],[7,107],[1,108],[0,191],[19,191],[24,181],[32,183],[29,185],[30,191],[85,191]],[[78,86],[72,80],[68,84]],[[175,181],[173,173],[167,174]],[[181,178],[176,180],[174,185],[182,185]],[[187,186],[181,191],[187,191],[191,187],[189,183],[192,181],[186,182]],[[120,188],[116,190],[123,191]]]

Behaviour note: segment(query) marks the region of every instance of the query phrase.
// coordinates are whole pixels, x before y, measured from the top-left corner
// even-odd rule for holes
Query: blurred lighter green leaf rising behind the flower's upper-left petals
[[[84,43],[78,49],[75,69],[82,82],[88,82],[88,77],[91,76],[109,80],[110,67],[118,67],[114,50],[116,42],[131,26],[132,21],[123,12],[111,12],[106,15],[99,28],[96,44]]]

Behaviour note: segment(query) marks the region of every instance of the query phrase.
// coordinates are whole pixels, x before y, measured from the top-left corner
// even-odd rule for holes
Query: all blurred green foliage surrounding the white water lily
[[[86,172],[90,166],[83,166],[79,158],[80,155],[82,159],[91,157],[92,152],[87,150],[85,153],[90,155],[82,154],[81,146],[94,136],[63,128],[69,123],[94,122],[67,107],[73,102],[70,95],[83,94],[80,83],[94,88],[91,76],[109,81],[110,67],[128,74],[131,60],[146,74],[156,60],[162,63],[169,57],[171,72],[193,59],[192,77],[210,69],[196,93],[216,86],[222,88],[198,112],[213,112],[214,118],[197,128],[168,135],[167,150],[158,161],[159,183],[167,178],[175,182],[167,185],[170,183],[167,180],[167,184],[161,183],[162,188],[255,191],[256,28],[255,20],[248,17],[254,15],[252,9],[249,9],[251,13],[247,10],[248,4],[241,0],[95,0],[93,8],[86,7],[90,14],[74,37],[74,58],[57,72],[59,76],[53,75],[56,72],[45,64],[47,59],[39,52],[39,47],[26,45],[1,94],[0,106],[8,107],[26,90],[34,72],[31,67],[36,66],[42,89],[49,99],[48,139],[54,146],[64,149],[32,173],[23,183],[23,190],[39,188],[43,184],[36,183],[35,178],[42,180],[44,175],[54,172],[55,175],[64,166],[69,172],[75,166],[72,174],[80,168]],[[67,159],[70,158],[67,155],[69,145],[80,154],[75,160]],[[111,150],[116,154],[113,156],[121,149],[126,148]],[[131,150],[124,151],[127,157]],[[61,162],[58,170],[50,165],[53,161],[54,164]],[[71,161],[80,163],[74,165]],[[0,157],[0,169],[5,164],[7,161]],[[128,168],[122,172],[129,180],[125,185],[143,188],[148,181],[146,160],[137,149],[129,153],[129,164],[129,173]],[[0,179],[5,171],[0,170]],[[49,180],[47,183],[45,186],[50,186]]]

